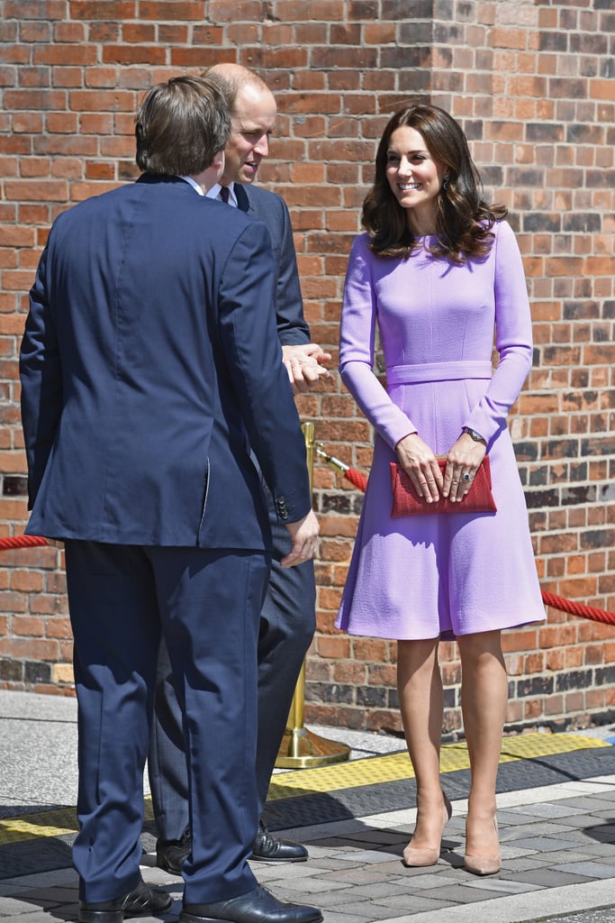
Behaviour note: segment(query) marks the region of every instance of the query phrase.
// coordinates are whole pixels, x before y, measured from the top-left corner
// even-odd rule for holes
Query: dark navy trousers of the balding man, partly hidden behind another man
[[[266,491],[268,497],[268,491]],[[268,497],[268,499],[270,499]],[[263,812],[271,773],[289,718],[290,704],[315,629],[313,561],[281,568],[290,535],[271,515],[274,559],[258,631],[258,732],[256,789]],[[225,615],[220,614],[224,622]],[[182,712],[173,688],[169,654],[160,647],[156,708],[148,753],[148,777],[158,835],[178,840],[188,826],[188,785]],[[253,835],[256,833],[254,827]]]

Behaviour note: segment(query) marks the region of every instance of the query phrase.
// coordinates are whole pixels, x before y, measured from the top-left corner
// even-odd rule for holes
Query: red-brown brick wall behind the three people
[[[535,366],[511,429],[542,586],[615,610],[611,0],[0,0],[0,10],[0,534],[21,533],[27,518],[18,343],[54,216],[136,176],[133,115],[152,83],[237,61],[278,98],[261,182],[289,203],[313,339],[334,354],[384,124],[417,95],[461,121],[525,258]],[[369,469],[369,426],[337,374],[300,403],[326,450]],[[395,644],[332,628],[361,493],[317,462],[314,503],[322,539],[306,719],[398,730]],[[505,646],[510,725],[583,724],[613,708],[615,629],[550,609],[545,627],[510,632]],[[442,659],[453,733],[455,644]],[[53,548],[0,560],[0,684],[72,691]]]

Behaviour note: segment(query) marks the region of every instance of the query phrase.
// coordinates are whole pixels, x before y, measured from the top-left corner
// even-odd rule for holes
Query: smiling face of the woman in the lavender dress
[[[414,234],[432,234],[444,166],[432,157],[416,128],[399,126],[391,135],[386,178],[402,209],[408,209],[410,230]]]

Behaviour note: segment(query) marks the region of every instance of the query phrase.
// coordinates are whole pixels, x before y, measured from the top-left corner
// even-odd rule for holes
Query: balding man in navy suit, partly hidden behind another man
[[[276,260],[278,340],[294,390],[309,390],[326,374],[324,364],[330,356],[310,342],[310,330],[303,318],[297,259],[286,204],[275,193],[253,185],[259,165],[269,153],[269,136],[277,114],[276,101],[264,81],[242,66],[217,65],[207,70],[207,77],[219,86],[231,109],[231,138],[225,148],[224,173],[219,184],[212,186],[207,195],[222,198],[266,224]],[[266,495],[274,537],[274,559],[258,640],[256,780],[261,813],[297,678],[315,628],[313,562],[306,561],[294,568],[280,565],[289,550],[289,536],[276,521],[273,500],[267,489]],[[171,669],[162,650],[148,771],[159,833],[158,864],[174,874],[181,873],[183,861],[190,852],[181,721],[172,689]],[[307,857],[303,845],[279,839],[260,821],[252,858],[300,862]]]

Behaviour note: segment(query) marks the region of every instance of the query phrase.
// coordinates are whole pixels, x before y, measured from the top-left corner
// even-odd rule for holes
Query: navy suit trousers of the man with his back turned
[[[112,900],[139,880],[160,629],[185,713],[193,853],[184,901],[251,891],[256,645],[268,556],[82,541],[67,541],[65,551],[78,703],[73,860],[80,898]]]

